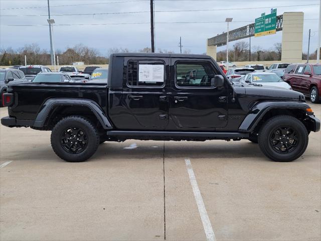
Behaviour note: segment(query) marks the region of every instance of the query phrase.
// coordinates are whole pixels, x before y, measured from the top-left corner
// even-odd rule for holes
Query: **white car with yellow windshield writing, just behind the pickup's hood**
[[[261,84],[263,86],[275,86],[280,88],[292,89],[277,74],[271,72],[252,72],[240,79],[241,84]]]

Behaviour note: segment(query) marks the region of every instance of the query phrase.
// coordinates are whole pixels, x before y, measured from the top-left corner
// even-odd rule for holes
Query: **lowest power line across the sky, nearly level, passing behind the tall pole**
[[[318,20],[318,19],[304,19]],[[204,22],[155,22],[155,24],[211,24],[211,23],[225,23],[225,21],[204,21]],[[233,23],[253,23],[253,21],[233,21]],[[55,24],[55,26],[91,26],[91,25],[130,25],[130,24],[150,24],[150,22],[137,23],[103,23],[103,24]],[[46,24],[10,24],[1,26],[48,26]],[[317,32],[317,31],[315,31]],[[186,46],[187,47],[187,46]]]

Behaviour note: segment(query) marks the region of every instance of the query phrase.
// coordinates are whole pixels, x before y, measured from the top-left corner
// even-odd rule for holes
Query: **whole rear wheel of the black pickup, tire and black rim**
[[[51,146],[61,159],[67,162],[83,162],[96,152],[99,134],[86,118],[67,116],[53,128]]]

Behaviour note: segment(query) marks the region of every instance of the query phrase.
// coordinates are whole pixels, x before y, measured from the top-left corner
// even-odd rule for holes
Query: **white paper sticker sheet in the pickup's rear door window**
[[[163,64],[139,64],[139,82],[164,82]]]

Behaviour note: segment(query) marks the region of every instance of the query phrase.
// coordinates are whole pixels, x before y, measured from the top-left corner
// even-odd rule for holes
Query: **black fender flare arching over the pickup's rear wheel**
[[[45,125],[46,119],[50,112],[57,106],[86,106],[88,107],[97,117],[101,126],[107,129],[113,129],[108,116],[102,110],[102,108],[91,99],[82,98],[49,98],[41,106],[40,111],[36,117],[33,127],[42,128]]]

